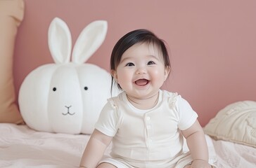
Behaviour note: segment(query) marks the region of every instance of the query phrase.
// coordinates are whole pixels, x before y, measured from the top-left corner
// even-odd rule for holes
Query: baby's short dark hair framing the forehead
[[[120,38],[120,40],[117,41],[117,43],[115,44],[110,58],[111,71],[117,69],[117,66],[121,61],[123,53],[136,43],[148,43],[157,46],[159,50],[162,52],[162,58],[164,60],[165,66],[168,66],[169,68],[171,67],[168,51],[165,46],[165,41],[158,38],[158,36],[155,36],[153,32],[147,29],[136,29],[122,36],[122,38]],[[113,88],[113,85],[114,78],[112,76],[111,90]],[[120,85],[118,85],[118,88],[122,89]]]

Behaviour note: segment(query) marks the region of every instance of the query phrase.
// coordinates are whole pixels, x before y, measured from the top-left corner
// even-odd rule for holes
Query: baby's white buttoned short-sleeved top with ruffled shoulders
[[[96,129],[114,137],[113,158],[157,162],[177,158],[183,146],[179,130],[191,127],[197,117],[180,95],[160,90],[158,104],[143,111],[132,106],[122,92],[108,99]]]

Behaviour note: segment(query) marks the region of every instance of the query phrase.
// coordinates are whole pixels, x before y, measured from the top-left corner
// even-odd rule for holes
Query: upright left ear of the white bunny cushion
[[[48,45],[56,64],[70,62],[72,40],[68,25],[60,18],[51,21],[48,31]]]

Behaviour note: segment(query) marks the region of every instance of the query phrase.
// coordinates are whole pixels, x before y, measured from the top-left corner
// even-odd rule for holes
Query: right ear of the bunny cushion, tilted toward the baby
[[[85,27],[75,42],[72,62],[78,64],[86,62],[105,40],[107,29],[108,23],[104,20],[91,22]]]

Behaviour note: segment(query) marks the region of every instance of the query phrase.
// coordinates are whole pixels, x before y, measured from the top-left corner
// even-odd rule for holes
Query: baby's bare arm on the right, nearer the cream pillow
[[[186,138],[189,151],[191,151],[191,156],[193,158],[191,167],[211,167],[208,163],[209,154],[205,133],[198,120],[196,120],[196,122],[187,130],[181,132]]]

